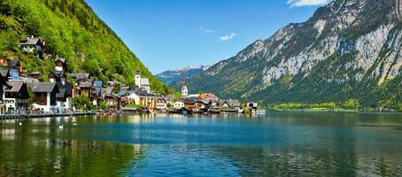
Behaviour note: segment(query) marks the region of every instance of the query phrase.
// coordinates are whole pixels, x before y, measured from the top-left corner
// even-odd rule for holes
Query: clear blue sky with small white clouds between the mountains
[[[328,0],[86,0],[152,73],[212,65]]]

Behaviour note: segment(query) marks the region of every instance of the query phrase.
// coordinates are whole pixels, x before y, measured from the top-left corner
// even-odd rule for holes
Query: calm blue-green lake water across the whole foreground
[[[0,121],[0,176],[222,175],[401,176],[402,115]]]

